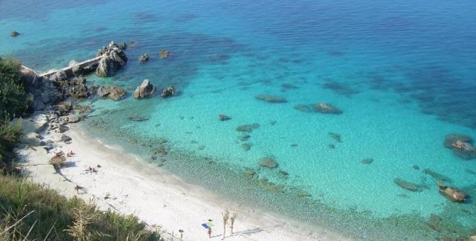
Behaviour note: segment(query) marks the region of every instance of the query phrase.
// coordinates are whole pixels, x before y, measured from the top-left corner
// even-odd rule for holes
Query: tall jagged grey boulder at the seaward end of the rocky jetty
[[[99,50],[97,56],[101,56],[96,74],[99,77],[113,76],[118,69],[124,67],[127,63],[127,56],[114,42],[109,43],[107,47]]]

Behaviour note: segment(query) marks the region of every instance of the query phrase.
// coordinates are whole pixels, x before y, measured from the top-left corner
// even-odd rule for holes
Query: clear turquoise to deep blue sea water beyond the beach
[[[423,173],[444,174],[450,186],[476,195],[475,160],[443,147],[450,133],[476,138],[475,12],[470,0],[3,0],[0,53],[42,72],[86,60],[111,40],[135,41],[126,69],[88,80],[131,94],[150,79],[179,94],[91,101],[95,111],[83,125],[92,135],[147,161],[166,148],[154,161],[166,159],[160,168],[299,222],[361,240],[434,240],[476,228],[474,199],[450,203]],[[11,30],[21,35],[11,38]],[[171,57],[159,59],[162,49]],[[143,53],[151,60],[141,64]],[[287,102],[259,101],[259,94]],[[343,113],[294,108],[320,102]],[[240,140],[237,127],[254,123]],[[261,157],[278,168],[260,168]],[[362,164],[367,158],[374,162]],[[395,178],[427,188],[407,191]],[[303,192],[310,197],[298,197]],[[427,224],[431,214],[443,218],[436,230]]]

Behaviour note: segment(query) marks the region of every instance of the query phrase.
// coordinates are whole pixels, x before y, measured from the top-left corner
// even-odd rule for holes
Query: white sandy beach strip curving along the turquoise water
[[[33,130],[45,122],[44,115],[23,120],[24,130],[31,142],[38,134]],[[43,135],[43,140],[53,140],[58,147],[48,154],[43,147],[18,150],[27,162],[25,169],[31,172],[31,179],[46,184],[67,197],[79,196],[85,201],[94,202],[100,209],[114,210],[124,214],[134,214],[148,225],[159,225],[163,232],[174,233],[183,230],[183,240],[221,240],[223,235],[222,211],[237,213],[234,235],[225,240],[351,240],[332,232],[316,228],[303,228],[269,213],[261,213],[250,208],[227,203],[220,196],[198,186],[185,184],[175,176],[158,167],[146,164],[120,150],[107,147],[99,140],[90,140],[74,124],[64,134],[72,138],[70,144],[60,142],[60,133]],[[75,152],[67,161],[72,167],[63,168],[63,175],[55,172],[48,160],[55,152]],[[98,167],[98,165],[100,167]],[[92,167],[96,173],[89,172]],[[75,186],[84,187],[79,194]],[[105,198],[109,197],[109,198]],[[212,238],[201,226],[212,219]],[[169,238],[167,239],[169,240]],[[175,240],[179,240],[175,238]]]

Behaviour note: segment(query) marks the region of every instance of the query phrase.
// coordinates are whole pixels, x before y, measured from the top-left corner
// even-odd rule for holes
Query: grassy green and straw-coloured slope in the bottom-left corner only
[[[0,175],[0,240],[161,240],[133,215],[98,211],[80,198]]]

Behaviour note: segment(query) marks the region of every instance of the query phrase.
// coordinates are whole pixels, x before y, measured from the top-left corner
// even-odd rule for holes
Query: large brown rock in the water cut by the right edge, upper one
[[[472,139],[467,135],[446,135],[443,145],[453,150],[455,156],[461,159],[476,159],[476,147],[472,145]]]

